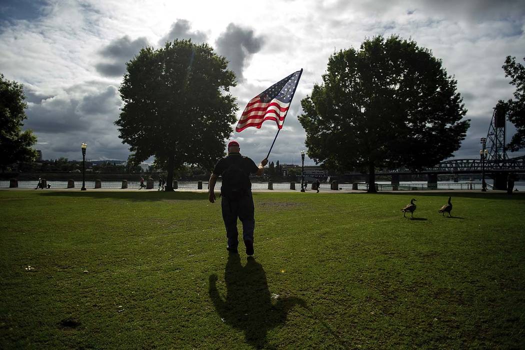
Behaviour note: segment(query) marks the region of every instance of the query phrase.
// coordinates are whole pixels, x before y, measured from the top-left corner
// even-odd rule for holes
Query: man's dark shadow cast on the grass
[[[306,307],[302,299],[275,294],[275,302],[272,302],[266,273],[253,257],[248,257],[243,267],[239,254],[229,254],[224,279],[226,300],[217,291],[215,274],[209,277],[209,296],[223,322],[244,331],[246,342],[256,348],[267,346],[268,330],[285,323],[293,306]]]

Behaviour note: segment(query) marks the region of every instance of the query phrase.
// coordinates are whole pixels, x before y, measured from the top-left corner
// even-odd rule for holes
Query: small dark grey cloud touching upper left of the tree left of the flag
[[[137,55],[143,47],[148,46],[148,40],[144,37],[131,40],[127,35],[115,39],[99,51],[103,58],[95,65],[95,68],[103,76],[119,77],[126,71],[125,62]]]

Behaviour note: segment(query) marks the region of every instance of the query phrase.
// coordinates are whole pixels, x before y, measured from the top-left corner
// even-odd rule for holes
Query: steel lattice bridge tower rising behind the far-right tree
[[[487,133],[487,161],[493,168],[504,168],[508,160],[505,151],[506,116],[507,106],[500,100],[492,112],[492,120]]]

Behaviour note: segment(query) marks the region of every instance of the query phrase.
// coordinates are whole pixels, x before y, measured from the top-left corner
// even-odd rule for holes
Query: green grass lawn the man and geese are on
[[[204,193],[0,191],[0,348],[523,347],[525,195],[448,195],[256,193],[253,260]]]

